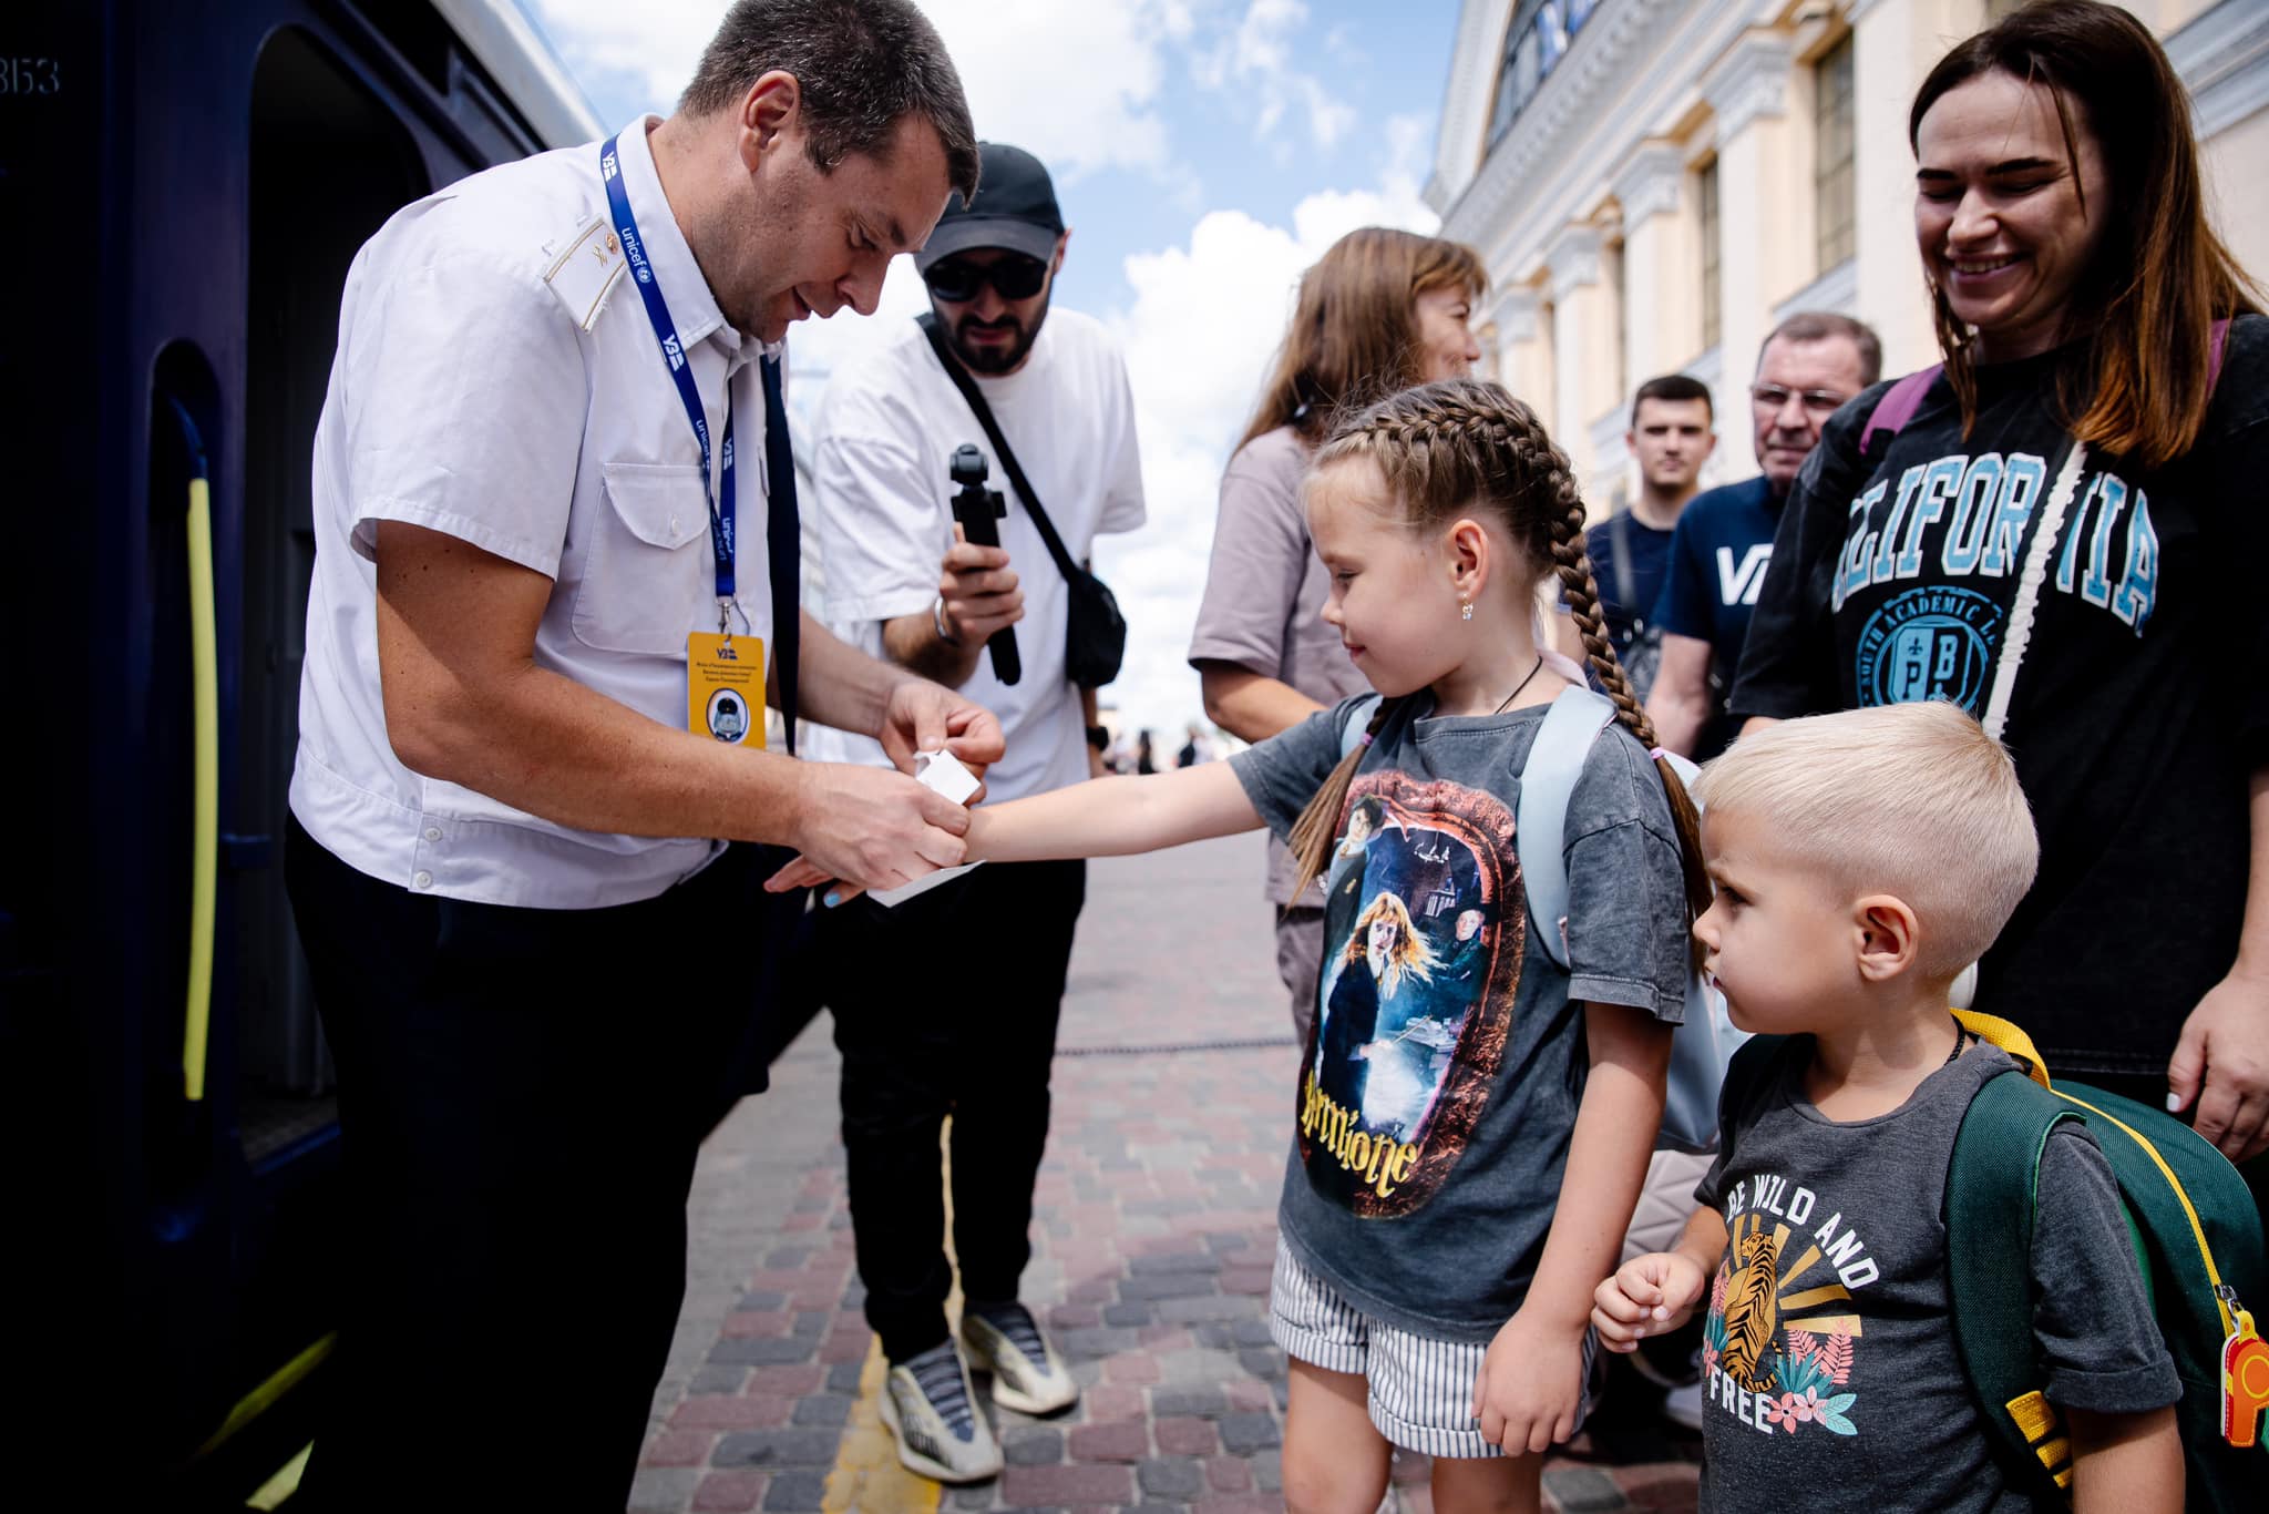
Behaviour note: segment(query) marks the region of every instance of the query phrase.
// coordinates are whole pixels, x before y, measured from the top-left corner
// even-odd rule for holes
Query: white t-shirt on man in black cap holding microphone
[[[1119,345],[1098,320],[1048,311],[1026,365],[1005,377],[980,375],[978,386],[1073,561],[1087,558],[1096,536],[1144,522],[1134,395]],[[812,508],[824,620],[851,645],[883,656],[885,620],[930,613],[953,545],[955,486],[946,465],[962,443],[985,454],[985,486],[1007,499],[1001,545],[1023,586],[1017,624],[1023,676],[1001,683],[992,654],[982,654],[962,692],[998,715],[1007,735],[1007,756],[985,774],[987,794],[1044,794],[1087,776],[1080,690],[1064,676],[1069,590],[985,427],[912,320],[889,345],[837,370],[819,402]],[[810,758],[885,765],[871,738],[808,731]]]

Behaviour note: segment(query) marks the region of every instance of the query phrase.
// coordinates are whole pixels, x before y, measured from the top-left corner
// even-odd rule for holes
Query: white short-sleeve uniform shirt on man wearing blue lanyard
[[[640,118],[622,177],[710,436],[733,397],[737,604],[771,642],[765,397],[653,173]],[[583,329],[558,252],[604,218],[599,145],[461,179],[356,254],[315,427],[315,579],[290,808],[343,863],[406,890],[531,908],[649,899],[706,867],[708,838],[599,835],[404,767],[379,690],[377,527],[399,520],[551,579],[535,663],[685,724],[685,636],[717,629],[701,447],[631,275]]]

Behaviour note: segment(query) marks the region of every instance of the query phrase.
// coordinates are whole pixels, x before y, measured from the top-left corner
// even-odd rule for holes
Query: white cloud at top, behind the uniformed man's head
[[[533,5],[579,77],[624,82],[651,109],[685,89],[724,11],[719,0]],[[1098,168],[1169,173],[1155,107],[1164,48],[1196,25],[1184,0],[926,0],[921,9],[953,54],[978,136],[1048,143],[1062,179]]]

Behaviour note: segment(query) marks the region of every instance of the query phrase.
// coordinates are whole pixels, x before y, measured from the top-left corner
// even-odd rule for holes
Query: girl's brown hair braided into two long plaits
[[[1622,676],[1616,642],[1609,640],[1606,620],[1600,615],[1600,586],[1591,577],[1591,558],[1584,556],[1584,495],[1566,454],[1536,420],[1536,411],[1495,384],[1475,379],[1425,384],[1382,399],[1334,429],[1316,454],[1314,472],[1357,459],[1380,470],[1386,493],[1411,529],[1448,527],[1459,515],[1491,511],[1538,570],[1550,563],[1584,638],[1584,658],[1600,688],[1616,701],[1616,724],[1636,735],[1640,747],[1650,751],[1656,747],[1654,724]],[[1386,726],[1398,706],[1398,699],[1380,701],[1364,742],[1341,758],[1300,813],[1291,831],[1298,863],[1296,899],[1330,865],[1339,813],[1348,804],[1355,769],[1370,738]],[[1702,869],[1702,817],[1668,760],[1656,756],[1654,772],[1663,781],[1670,819],[1679,833],[1679,869],[1693,919],[1711,899],[1709,874]]]

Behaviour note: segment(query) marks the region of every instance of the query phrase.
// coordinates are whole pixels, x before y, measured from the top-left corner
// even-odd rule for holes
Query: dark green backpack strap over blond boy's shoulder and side
[[[1999,1460],[2024,1482],[2072,1489],[2072,1444],[2040,1394],[2033,1344],[2033,1212],[2049,1135],[2078,1112],[2004,1071],[1969,1101],[1947,1167],[1947,1294],[1954,1351]]]

